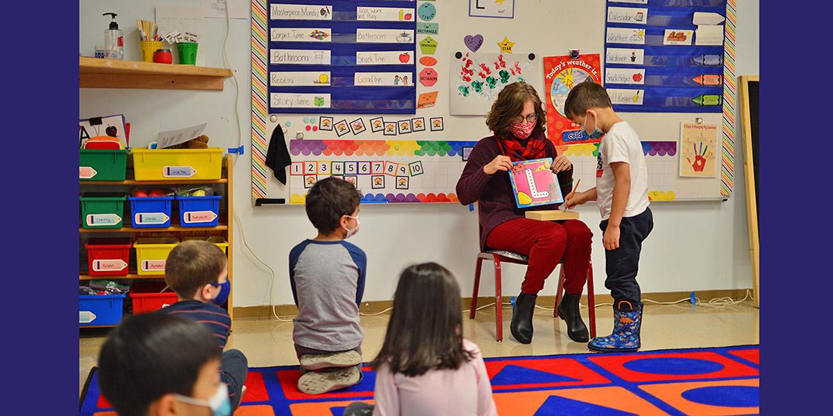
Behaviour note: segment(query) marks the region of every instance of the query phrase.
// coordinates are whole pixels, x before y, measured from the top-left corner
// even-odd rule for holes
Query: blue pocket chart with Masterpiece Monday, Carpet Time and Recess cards
[[[269,112],[414,114],[416,7],[269,0]]]

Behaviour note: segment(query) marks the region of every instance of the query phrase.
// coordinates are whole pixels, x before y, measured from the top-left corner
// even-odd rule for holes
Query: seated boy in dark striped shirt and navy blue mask
[[[203,324],[214,334],[215,348],[222,351],[232,327],[231,317],[220,307],[231,291],[226,254],[207,241],[182,242],[167,255],[165,283],[177,292],[179,301],[159,312]],[[237,409],[248,373],[246,355],[238,349],[223,352],[220,369],[222,381],[228,385],[232,410]]]

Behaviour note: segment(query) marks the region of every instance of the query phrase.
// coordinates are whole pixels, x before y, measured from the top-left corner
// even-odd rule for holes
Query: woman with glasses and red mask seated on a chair
[[[555,206],[519,209],[507,171],[512,162],[551,157],[561,194],[572,186],[572,163],[559,155],[544,136],[544,112],[535,88],[526,82],[507,85],[498,94],[486,117],[492,136],[482,138],[471,150],[457,181],[462,205],[480,204],[481,250],[506,250],[529,257],[521,294],[512,308],[511,334],[521,344],[532,341],[532,314],[544,280],[563,261],[564,297],[558,314],[567,324],[567,334],[587,342],[587,327],[581,320],[579,299],[590,265],[591,230],[580,220],[541,221],[527,219],[526,210],[552,210]]]

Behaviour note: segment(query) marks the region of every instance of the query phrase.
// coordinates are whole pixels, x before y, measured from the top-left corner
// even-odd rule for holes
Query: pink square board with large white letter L
[[[509,180],[518,208],[564,202],[558,179],[552,173],[552,158],[514,162]]]

